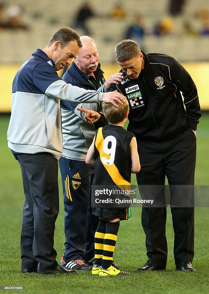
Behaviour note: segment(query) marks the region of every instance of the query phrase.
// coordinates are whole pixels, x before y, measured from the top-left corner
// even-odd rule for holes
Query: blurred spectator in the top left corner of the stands
[[[0,4],[0,27],[5,29],[24,29],[28,26],[21,19],[22,9],[19,5],[11,5],[5,10],[5,4]]]

